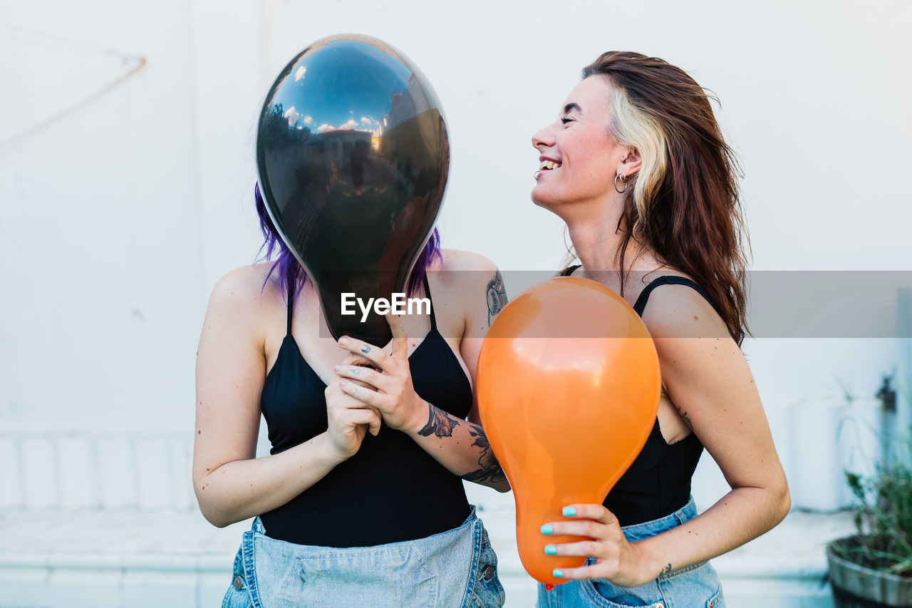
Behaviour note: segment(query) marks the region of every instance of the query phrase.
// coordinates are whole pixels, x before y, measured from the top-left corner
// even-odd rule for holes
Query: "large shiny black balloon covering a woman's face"
[[[256,164],[275,227],[320,295],[333,337],[391,338],[373,309],[341,314],[341,294],[390,299],[430,236],[450,164],[440,101],[398,50],[361,35],[317,40],[263,105]]]

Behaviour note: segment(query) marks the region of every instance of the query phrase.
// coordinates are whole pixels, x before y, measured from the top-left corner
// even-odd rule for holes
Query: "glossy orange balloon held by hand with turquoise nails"
[[[497,315],[478,362],[485,433],[513,487],[516,543],[537,581],[584,557],[544,546],[572,503],[601,503],[642,449],[658,412],[661,375],[648,330],[624,299],[586,278],[551,278]]]

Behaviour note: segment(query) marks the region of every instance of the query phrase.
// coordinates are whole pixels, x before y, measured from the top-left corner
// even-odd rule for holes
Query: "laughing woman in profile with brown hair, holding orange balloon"
[[[704,90],[658,58],[609,52],[583,70],[557,121],[535,133],[532,199],[567,225],[580,265],[634,306],[658,351],[658,417],[604,504],[566,505],[548,545],[586,556],[539,587],[539,606],[724,605],[709,560],[760,536],[790,507],[745,324],[736,162]],[[706,448],[731,491],[697,515]]]

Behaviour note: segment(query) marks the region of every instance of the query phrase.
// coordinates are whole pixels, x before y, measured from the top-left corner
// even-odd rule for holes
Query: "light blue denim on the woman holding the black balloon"
[[[271,539],[244,532],[223,608],[500,608],[504,592],[475,508],[459,528],[375,547]]]

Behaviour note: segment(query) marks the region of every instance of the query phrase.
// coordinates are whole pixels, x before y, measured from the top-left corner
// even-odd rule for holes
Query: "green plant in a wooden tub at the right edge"
[[[877,396],[895,411],[888,378]],[[912,606],[912,465],[903,456],[885,458],[872,477],[846,472],[858,533],[826,547],[836,608]]]

